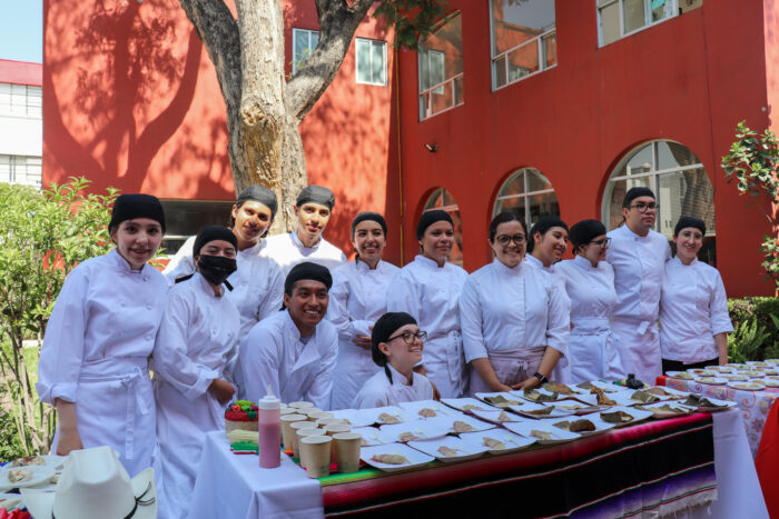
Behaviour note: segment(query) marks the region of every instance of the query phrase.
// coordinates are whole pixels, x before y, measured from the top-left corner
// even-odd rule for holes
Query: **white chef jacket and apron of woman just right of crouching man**
[[[358,336],[371,337],[376,319],[387,311],[387,290],[401,269],[379,261],[371,269],[364,261],[344,263],[333,271],[327,319],[338,329],[338,360],[333,380],[332,409],[346,409],[365,381],[379,370],[371,349],[355,345]]]

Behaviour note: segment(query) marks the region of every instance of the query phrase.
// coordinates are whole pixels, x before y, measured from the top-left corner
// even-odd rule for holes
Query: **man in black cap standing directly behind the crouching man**
[[[300,261],[310,261],[329,270],[345,262],[344,252],[322,236],[334,206],[335,197],[329,189],[314,184],[303,188],[295,203],[297,229],[269,237],[262,254],[276,261],[285,276]]]

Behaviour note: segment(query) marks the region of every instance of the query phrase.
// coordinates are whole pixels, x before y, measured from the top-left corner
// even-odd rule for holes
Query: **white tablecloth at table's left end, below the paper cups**
[[[280,467],[263,469],[257,456],[230,452],[224,431],[209,432],[189,517],[322,518],[322,487],[286,455]]]

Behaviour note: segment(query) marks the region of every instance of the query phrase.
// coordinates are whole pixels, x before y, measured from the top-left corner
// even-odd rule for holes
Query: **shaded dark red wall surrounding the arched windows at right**
[[[739,9],[707,1],[603,48],[594,2],[556,1],[559,64],[491,91],[486,2],[452,0],[462,11],[465,102],[418,122],[416,56],[400,61],[406,254],[430,192],[448,189],[463,218],[464,267],[489,261],[487,223],[509,174],[539,169],[561,216],[601,218],[603,188],[637,144],[669,139],[702,161],[714,189],[717,257],[732,297],[772,293],[759,243],[769,231],[758,208],[724,182],[719,163],[739,120],[768,124],[762,1]],[[436,143],[434,153],[424,143]],[[765,202],[765,201],[763,201]]]

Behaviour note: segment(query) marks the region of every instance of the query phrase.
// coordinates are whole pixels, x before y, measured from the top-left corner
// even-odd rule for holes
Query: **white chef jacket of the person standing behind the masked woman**
[[[162,273],[168,285],[176,283],[176,279],[196,272],[193,260],[195,238],[189,237],[176,256],[170,258]],[[254,247],[239,250],[236,254],[237,270],[233,272],[227,282],[233,290],[227,292],[227,298],[235,305],[240,313],[240,336],[246,337],[257,322],[282,308],[284,299],[284,277],[282,269],[269,258],[260,256],[265,248],[265,241]]]

